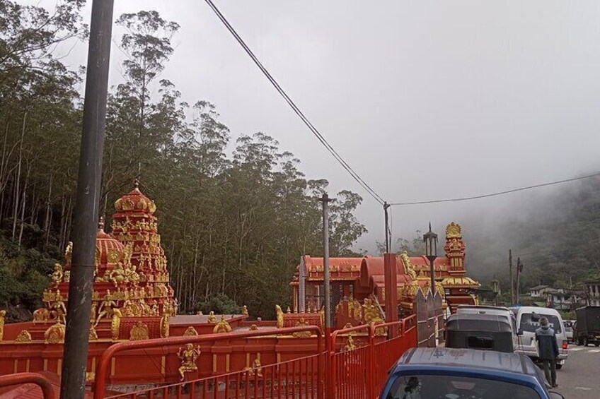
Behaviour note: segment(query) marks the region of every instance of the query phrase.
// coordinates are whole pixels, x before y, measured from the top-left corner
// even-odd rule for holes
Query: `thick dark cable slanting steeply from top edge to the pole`
[[[262,73],[270,81],[270,83],[273,85],[273,87],[275,87],[275,90],[277,90],[279,95],[281,95],[284,98],[284,100],[292,108],[292,110],[296,113],[296,115],[298,115],[298,117],[304,122],[304,124],[306,124],[308,129],[310,129],[310,131],[316,136],[318,141],[320,141],[321,144],[323,144],[323,146],[329,151],[329,153],[331,155],[333,155],[335,160],[337,160],[337,162],[339,162],[340,165],[342,165],[342,167],[344,169],[346,169],[346,171],[350,174],[350,176],[352,176],[352,178],[354,180],[356,180],[358,182],[358,184],[360,184],[360,186],[362,186],[362,188],[365,189],[365,191],[367,191],[367,193],[369,193],[373,198],[375,198],[375,201],[377,201],[381,205],[383,205],[383,203],[385,203],[385,201],[383,201],[383,198],[381,198],[381,196],[379,196],[379,194],[376,193],[376,191],[374,189],[371,189],[371,186],[369,186],[369,184],[367,184],[367,182],[364,181],[362,179],[362,177],[360,177],[359,174],[357,174],[357,172],[355,172],[354,169],[352,169],[352,167],[350,167],[350,165],[348,165],[348,163],[344,160],[344,158],[342,158],[342,156],[337,153],[337,151],[328,143],[328,141],[325,140],[323,135],[321,135],[321,132],[319,132],[318,129],[316,129],[316,127],[313,126],[313,124],[311,124],[311,121],[309,121],[308,118],[304,115],[304,113],[299,109],[299,107],[296,106],[296,104],[289,97],[289,95],[287,95],[287,93],[285,93],[285,91],[281,88],[279,83],[277,83],[277,81],[275,81],[275,78],[273,78],[271,76],[271,74],[269,73],[269,71],[267,71],[267,69],[265,69],[265,66],[262,66],[262,63],[254,55],[252,50],[250,50],[250,47],[248,47],[246,42],[244,42],[242,40],[242,38],[240,37],[240,35],[238,35],[238,32],[236,32],[236,30],[233,29],[233,27],[231,26],[229,21],[226,20],[226,18],[223,16],[221,11],[219,11],[219,8],[217,8],[217,6],[214,5],[212,0],[205,0],[205,1],[209,5],[209,7],[212,8],[212,11],[214,11],[214,13],[217,14],[217,17],[225,25],[227,30],[229,30],[231,35],[233,35],[233,37],[235,37],[236,41],[241,45],[241,47],[243,47],[244,51],[248,54],[248,56],[250,56],[250,58],[254,61],[256,66],[258,66],[258,69],[260,69],[260,71],[262,71]]]

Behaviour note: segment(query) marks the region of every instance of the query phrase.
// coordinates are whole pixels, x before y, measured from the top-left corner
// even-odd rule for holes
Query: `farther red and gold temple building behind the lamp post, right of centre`
[[[475,291],[478,282],[466,276],[465,243],[461,226],[452,222],[446,227],[446,256],[434,261],[435,290],[442,295],[444,308],[454,313],[461,304],[477,304]],[[330,258],[330,282],[333,303],[340,306],[344,302],[373,302],[385,309],[385,277],[383,257],[364,256],[363,258]],[[313,309],[323,303],[323,258],[304,256],[298,269],[304,268],[306,281],[305,306]],[[408,256],[406,251],[396,256],[396,291],[398,302],[404,315],[414,313],[417,292],[427,295],[431,291],[431,265],[425,256]],[[300,273],[290,283],[294,312],[301,310]],[[319,306],[320,307],[320,306]],[[347,321],[346,321],[347,323]],[[354,324],[354,323],[352,323]],[[336,323],[342,328],[345,322]]]

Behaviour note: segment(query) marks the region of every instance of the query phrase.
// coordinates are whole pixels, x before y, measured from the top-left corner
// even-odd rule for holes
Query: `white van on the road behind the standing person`
[[[536,330],[540,327],[540,318],[548,318],[550,328],[556,334],[556,343],[558,344],[558,363],[556,368],[560,369],[565,364],[569,356],[569,347],[567,345],[567,332],[563,318],[558,311],[550,308],[537,306],[521,306],[510,308],[517,316],[517,336],[519,345],[517,352],[538,360],[538,349],[536,343]]]

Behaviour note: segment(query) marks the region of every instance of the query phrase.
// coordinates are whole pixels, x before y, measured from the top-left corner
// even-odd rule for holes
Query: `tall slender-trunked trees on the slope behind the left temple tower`
[[[0,308],[8,320],[40,306],[74,238],[85,71],[69,68],[59,49],[86,42],[84,4],[0,0]],[[328,181],[306,179],[269,134],[233,134],[211,102],[181,99],[163,73],[176,22],[139,11],[115,26],[123,33],[113,41],[127,56],[122,81],[109,88],[100,215],[110,225],[113,203],[139,179],[158,208],[180,311],[247,305],[271,317],[273,304],[289,304],[300,256],[322,254],[317,198]],[[362,198],[331,194],[330,254],[347,256],[367,231],[354,217]]]

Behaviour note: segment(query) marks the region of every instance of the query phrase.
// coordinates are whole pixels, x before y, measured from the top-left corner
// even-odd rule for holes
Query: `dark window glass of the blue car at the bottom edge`
[[[463,376],[415,374],[398,376],[386,399],[539,399],[519,383]]]

